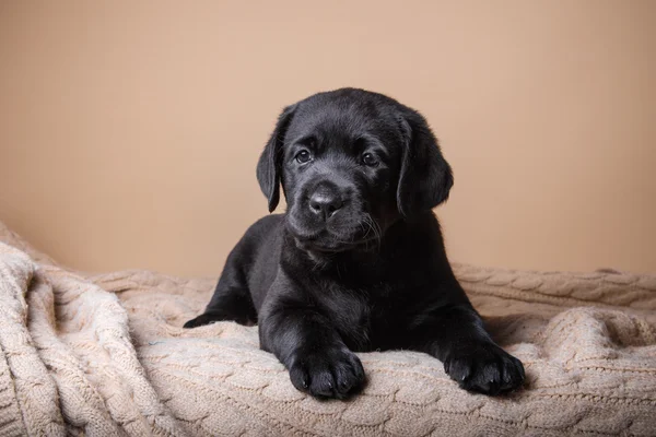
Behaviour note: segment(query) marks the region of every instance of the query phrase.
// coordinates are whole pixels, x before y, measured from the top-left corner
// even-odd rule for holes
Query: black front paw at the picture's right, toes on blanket
[[[494,343],[454,350],[444,370],[465,390],[490,395],[515,390],[525,378],[522,362]]]

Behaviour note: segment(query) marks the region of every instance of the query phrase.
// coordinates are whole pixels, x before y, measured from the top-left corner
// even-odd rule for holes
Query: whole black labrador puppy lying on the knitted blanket
[[[432,209],[453,176],[419,113],[363,90],[313,95],[280,115],[257,179],[269,211],[281,185],[288,210],[246,232],[185,328],[259,323],[261,347],[317,398],[362,389],[354,351],[422,351],[487,394],[523,383],[448,263]]]

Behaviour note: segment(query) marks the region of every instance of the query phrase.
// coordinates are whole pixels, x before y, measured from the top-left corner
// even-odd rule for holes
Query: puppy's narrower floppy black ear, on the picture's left
[[[296,105],[288,106],[278,117],[276,129],[257,163],[257,181],[267,199],[269,212],[273,212],[280,200],[280,181],[282,173],[282,144],[286,129],[292,121]]]

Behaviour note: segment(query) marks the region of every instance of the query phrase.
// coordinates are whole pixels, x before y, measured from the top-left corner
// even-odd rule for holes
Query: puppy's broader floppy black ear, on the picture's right
[[[409,109],[401,119],[405,139],[397,205],[403,216],[429,211],[448,198],[454,185],[450,166],[425,118]]]

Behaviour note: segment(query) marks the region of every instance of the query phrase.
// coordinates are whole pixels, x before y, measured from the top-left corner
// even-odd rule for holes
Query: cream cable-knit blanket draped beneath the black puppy
[[[656,435],[656,276],[458,264],[525,390],[470,394],[427,355],[363,353],[364,393],[319,402],[257,328],[181,329],[214,279],[85,276],[1,223],[0,241],[0,436]]]

